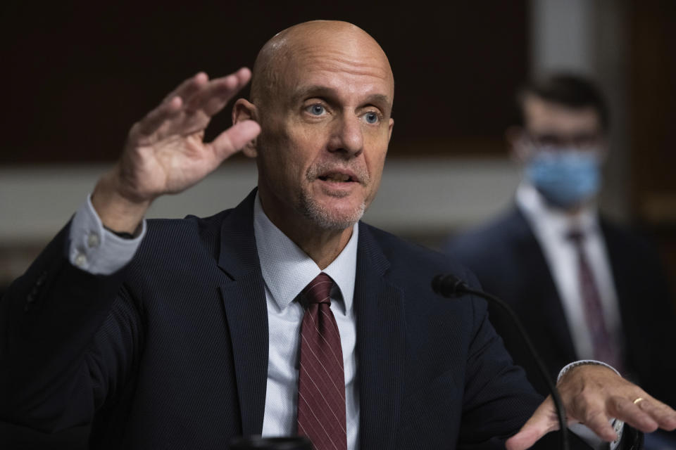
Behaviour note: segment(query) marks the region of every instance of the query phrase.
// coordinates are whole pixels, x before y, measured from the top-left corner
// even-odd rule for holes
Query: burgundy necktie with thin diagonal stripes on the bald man
[[[332,286],[322,272],[303,290],[298,434],[317,450],[347,449],[343,352],[330,309]]]

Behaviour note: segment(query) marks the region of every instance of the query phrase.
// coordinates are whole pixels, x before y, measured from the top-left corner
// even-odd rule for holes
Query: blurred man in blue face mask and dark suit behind
[[[517,312],[556,379],[564,361],[595,359],[618,368],[676,405],[674,299],[656,253],[596,207],[610,156],[608,109],[576,75],[553,74],[517,96],[520,123],[506,136],[523,167],[515,205],[451,238],[444,251],[465,263],[484,290]],[[503,313],[489,315],[515,363],[546,393],[532,357]],[[646,448],[665,436],[646,436]]]

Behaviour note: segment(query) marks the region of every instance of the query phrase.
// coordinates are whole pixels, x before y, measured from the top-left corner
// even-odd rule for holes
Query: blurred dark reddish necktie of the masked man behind
[[[589,266],[587,257],[584,253],[583,243],[584,235],[580,231],[570,231],[568,239],[575,245],[577,250],[578,274],[580,276],[580,295],[582,295],[582,307],[584,309],[584,319],[587,322],[587,328],[592,335],[592,344],[594,345],[594,359],[610,364],[615,369],[622,372],[622,359],[618,346],[611,339],[606,326],[606,319],[603,317],[603,305],[601,304],[601,295],[594,281],[592,268]]]

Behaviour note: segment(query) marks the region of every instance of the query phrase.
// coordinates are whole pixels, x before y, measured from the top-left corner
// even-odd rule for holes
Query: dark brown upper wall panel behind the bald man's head
[[[251,67],[273,34],[315,18],[363,27],[389,56],[391,155],[503,150],[513,91],[527,75],[525,0],[14,2],[3,20],[11,132],[0,163],[114,160],[130,124],[182,79]],[[222,113],[209,131],[229,125]]]

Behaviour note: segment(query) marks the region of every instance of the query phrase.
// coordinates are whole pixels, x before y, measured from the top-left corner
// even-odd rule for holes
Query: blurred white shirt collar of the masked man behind
[[[573,217],[549,205],[537,188],[528,181],[522,181],[517,188],[516,203],[540,233],[563,238],[572,230],[587,236],[599,232],[599,214],[594,205],[582,207]]]

